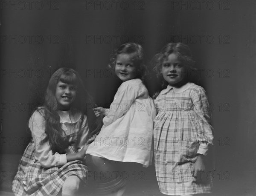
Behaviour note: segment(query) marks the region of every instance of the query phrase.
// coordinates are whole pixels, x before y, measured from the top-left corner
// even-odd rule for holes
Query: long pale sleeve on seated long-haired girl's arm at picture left
[[[67,163],[67,155],[52,153],[49,142],[45,141],[45,119],[39,111],[35,111],[30,120],[29,128],[35,143],[35,159],[38,159],[43,167],[62,166]]]

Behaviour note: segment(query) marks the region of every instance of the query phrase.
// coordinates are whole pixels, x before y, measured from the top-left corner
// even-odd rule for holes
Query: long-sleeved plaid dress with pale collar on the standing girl
[[[207,155],[208,146],[213,140],[209,104],[204,89],[193,83],[175,89],[167,86],[154,100],[154,104],[157,108],[154,159],[161,193],[210,193],[210,178],[195,179],[192,176],[197,153]]]

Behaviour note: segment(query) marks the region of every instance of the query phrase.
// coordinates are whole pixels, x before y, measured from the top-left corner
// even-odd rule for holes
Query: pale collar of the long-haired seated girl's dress
[[[58,115],[60,116],[61,123],[76,123],[81,118],[81,112],[75,108],[71,108],[68,111],[58,111]]]

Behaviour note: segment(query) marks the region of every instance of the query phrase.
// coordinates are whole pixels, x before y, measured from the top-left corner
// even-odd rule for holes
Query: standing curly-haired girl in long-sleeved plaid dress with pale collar
[[[193,61],[183,43],[168,43],[154,56],[154,69],[163,78],[155,98],[154,159],[161,193],[193,195],[210,193],[204,159],[213,135],[204,89],[189,80]]]

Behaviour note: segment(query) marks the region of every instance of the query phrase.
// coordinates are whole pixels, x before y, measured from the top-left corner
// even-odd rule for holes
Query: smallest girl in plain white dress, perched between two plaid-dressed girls
[[[119,46],[111,58],[111,68],[122,80],[110,109],[97,107],[96,116],[105,115],[103,127],[87,149],[88,167],[99,180],[97,194],[122,195],[125,183],[120,173],[125,162],[151,164],[153,153],[153,100],[143,84],[143,48],[136,43]],[[118,171],[118,172],[117,172]],[[106,177],[106,174],[108,174]],[[130,174],[129,174],[130,175]]]

